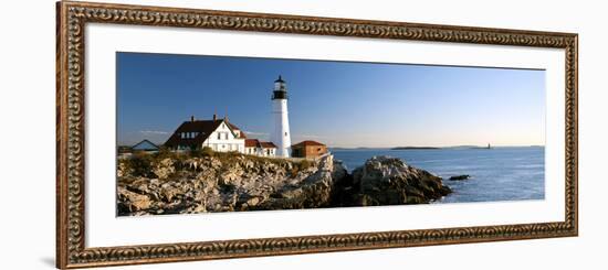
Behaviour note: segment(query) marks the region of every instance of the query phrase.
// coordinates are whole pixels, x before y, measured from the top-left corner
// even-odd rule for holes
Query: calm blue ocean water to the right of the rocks
[[[545,148],[497,147],[432,150],[332,150],[348,171],[374,155],[389,155],[443,177],[453,193],[437,203],[496,202],[545,198]],[[465,181],[450,181],[469,174]]]

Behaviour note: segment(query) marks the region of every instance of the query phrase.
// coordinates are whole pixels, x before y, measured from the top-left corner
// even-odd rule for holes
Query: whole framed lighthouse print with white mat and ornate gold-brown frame
[[[56,12],[57,268],[578,233],[577,34]]]

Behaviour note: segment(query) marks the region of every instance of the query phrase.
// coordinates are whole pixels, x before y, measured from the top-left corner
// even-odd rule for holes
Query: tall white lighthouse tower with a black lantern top
[[[272,121],[274,127],[270,140],[276,145],[276,156],[290,158],[292,139],[287,112],[287,87],[281,75],[274,80],[272,91]]]

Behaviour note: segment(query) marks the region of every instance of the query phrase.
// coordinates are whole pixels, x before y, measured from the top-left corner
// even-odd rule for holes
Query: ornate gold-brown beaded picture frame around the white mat
[[[56,267],[84,268],[329,252],[578,234],[578,35],[283,14],[61,1],[56,4]],[[565,50],[564,222],[262,239],[86,247],[85,50],[88,23],[273,32]]]

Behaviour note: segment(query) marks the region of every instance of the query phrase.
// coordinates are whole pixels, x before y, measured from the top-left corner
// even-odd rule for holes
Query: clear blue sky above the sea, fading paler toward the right
[[[117,53],[117,140],[163,143],[214,111],[268,139],[287,83],[292,142],[331,147],[544,145],[545,72]]]

